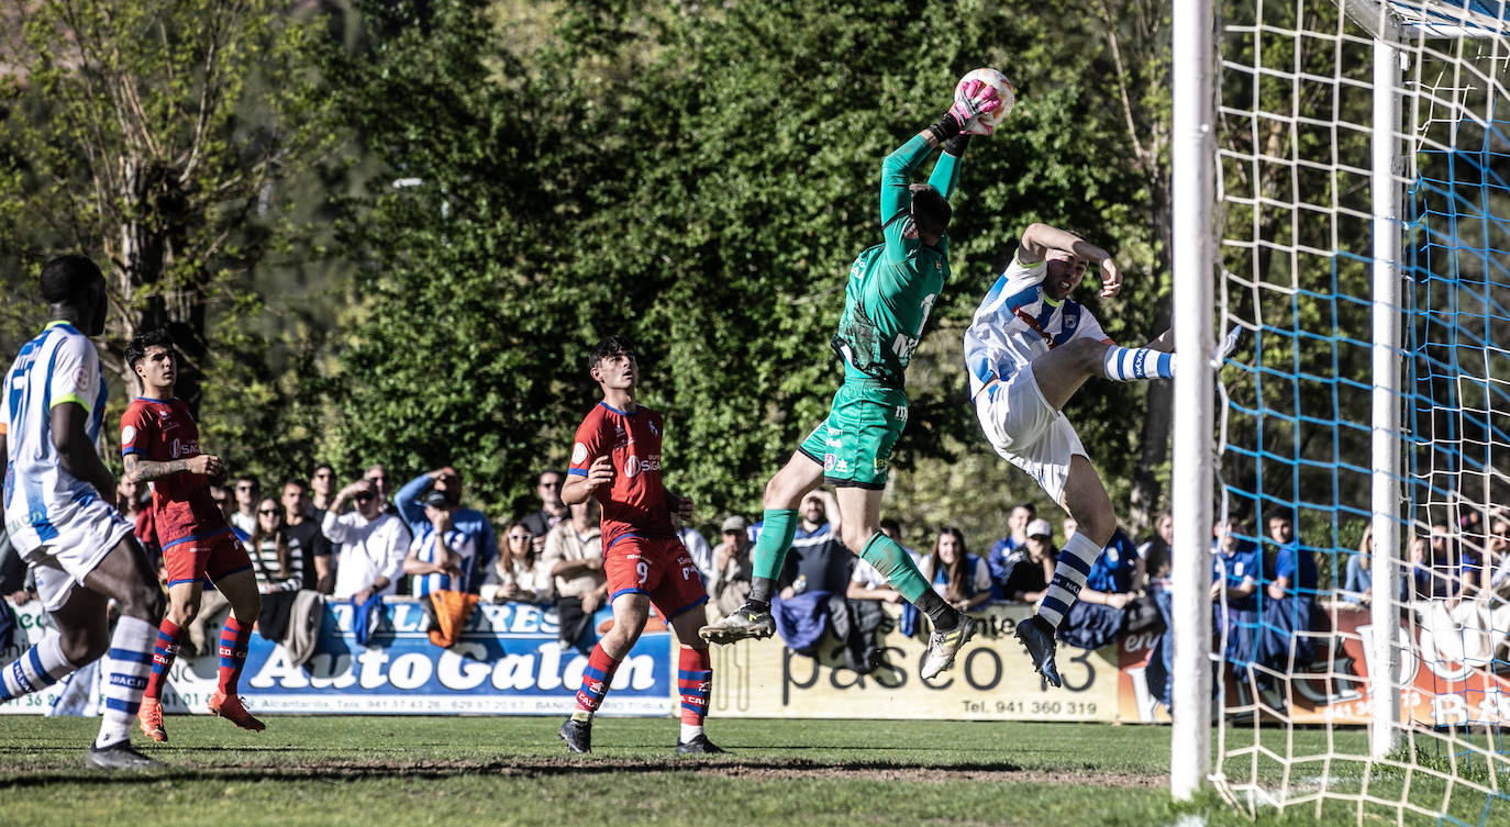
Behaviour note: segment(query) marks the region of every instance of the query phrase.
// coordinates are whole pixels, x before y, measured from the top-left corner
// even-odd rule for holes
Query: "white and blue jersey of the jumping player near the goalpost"
[[[1110,343],[1101,323],[1080,302],[1049,299],[1043,291],[1048,264],[1012,264],[991,285],[965,329],[969,397],[992,379],[1006,382],[1033,359],[1077,338]]]

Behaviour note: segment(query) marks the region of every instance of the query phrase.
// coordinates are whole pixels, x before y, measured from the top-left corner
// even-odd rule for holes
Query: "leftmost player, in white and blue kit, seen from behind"
[[[89,337],[104,332],[104,276],[88,258],[65,255],[42,267],[41,281],[53,321],[11,365],[0,454],[6,530],[36,573],[57,634],[0,670],[0,703],[106,655],[104,711],[86,762],[101,770],[154,767],[131,749],[131,723],[153,664],[163,593],[131,524],[112,506],[115,477],[95,451],[106,386]],[[112,599],[121,611],[113,632],[106,611]]]

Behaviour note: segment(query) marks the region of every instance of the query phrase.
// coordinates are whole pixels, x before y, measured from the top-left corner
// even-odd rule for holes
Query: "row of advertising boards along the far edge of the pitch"
[[[1403,623],[1412,635],[1401,669],[1404,717],[1428,726],[1510,720],[1510,681],[1493,656],[1502,640],[1463,649],[1460,631],[1431,604],[1419,605],[1424,623]],[[1060,647],[1063,688],[1046,687],[1012,637],[1027,617],[1025,605],[991,607],[977,617],[982,631],[954,669],[923,681],[924,640],[898,631],[885,635],[883,663],[870,675],[843,666],[843,644],[832,637],[815,656],[797,655],[778,640],[746,640],[713,647],[711,717],[749,718],[938,718],[1024,721],[1169,721],[1160,703],[1158,673],[1149,659],[1158,632],[1122,635],[1098,650]],[[1326,626],[1312,632],[1317,663],[1291,682],[1288,714],[1296,723],[1365,724],[1368,708],[1368,613],[1332,607]],[[359,644],[349,604],[325,608],[314,655],[293,664],[288,652],[258,634],[242,676],[242,694],[258,712],[272,714],[424,714],[424,715],[565,715],[572,709],[587,664],[584,652],[556,640],[554,611],[528,605],[483,605],[459,643],[441,649],[426,634],[417,602],[384,607],[368,644]],[[12,640],[0,650],[11,663],[45,634],[48,620],[33,602],[17,610]],[[593,619],[612,623],[607,610]],[[658,620],[640,637],[613,679],[604,702],[609,715],[670,715],[676,709],[673,658],[676,641]],[[204,712],[214,690],[217,659],[181,658],[171,672],[163,705],[171,712]],[[1247,687],[1226,682],[1232,706],[1250,703]],[[45,714],[65,691],[86,703],[91,690],[51,687],[0,705],[0,714]],[[94,691],[97,694],[97,690]],[[66,699],[65,699],[66,700]],[[63,706],[68,706],[65,703]]]

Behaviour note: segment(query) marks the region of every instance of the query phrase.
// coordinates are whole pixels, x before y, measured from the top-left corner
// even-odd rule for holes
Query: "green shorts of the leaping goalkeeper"
[[[891,450],[908,427],[908,394],[876,380],[846,379],[823,420],[797,448],[823,463],[835,487],[886,487]]]

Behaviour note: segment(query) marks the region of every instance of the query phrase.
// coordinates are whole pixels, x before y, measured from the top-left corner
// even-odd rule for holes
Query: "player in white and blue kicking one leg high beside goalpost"
[[[1054,634],[1116,530],[1116,513],[1075,429],[1060,410],[1092,376],[1119,382],[1172,379],[1173,337],[1117,347],[1089,309],[1069,297],[1087,263],[1101,270],[1101,296],[1122,290],[1107,251],[1072,232],[1034,223],[965,330],[965,367],[980,427],[991,447],[1027,471],[1078,525],[1060,549],[1037,613],[1018,625],[1043,678],[1059,687]],[[1226,349],[1235,343],[1228,338]]]

